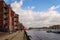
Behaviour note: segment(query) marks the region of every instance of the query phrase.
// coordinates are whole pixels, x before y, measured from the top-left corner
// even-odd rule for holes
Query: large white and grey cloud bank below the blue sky
[[[21,6],[23,0],[11,4],[12,9],[19,14],[20,22],[26,27],[43,27],[55,24],[60,24],[60,13],[55,9],[60,6],[52,6],[46,12],[34,12],[32,9],[35,7],[28,7],[28,10],[23,10]],[[31,9],[30,9],[31,8]]]

